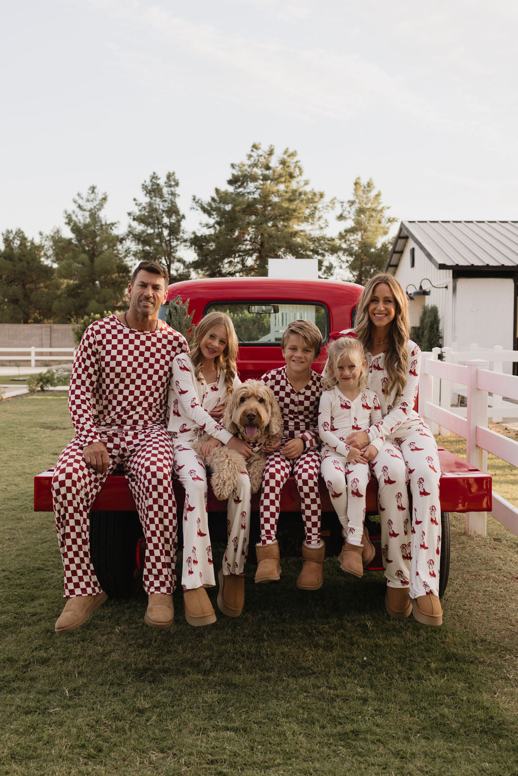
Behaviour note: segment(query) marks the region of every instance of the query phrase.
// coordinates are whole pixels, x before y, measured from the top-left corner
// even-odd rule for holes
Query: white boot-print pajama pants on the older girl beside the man
[[[185,590],[213,587],[214,563],[207,514],[207,469],[189,442],[173,443],[174,472],[186,491],[183,507],[182,584]],[[228,499],[228,544],[223,573],[240,574],[245,567],[250,532],[250,480],[244,469]]]

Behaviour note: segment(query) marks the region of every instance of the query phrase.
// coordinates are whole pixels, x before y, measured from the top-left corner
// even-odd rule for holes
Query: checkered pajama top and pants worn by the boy
[[[291,473],[301,496],[306,543],[310,546],[318,544],[321,515],[318,493],[318,402],[322,393],[322,376],[311,370],[308,384],[300,391],[294,390],[287,379],[285,366],[266,372],[261,380],[273,390],[283,416],[282,444],[294,438],[301,438],[306,444],[306,449],[296,459],[286,458],[280,450],[270,453],[266,459],[261,486],[261,544],[272,544],[276,541],[280,494]]]

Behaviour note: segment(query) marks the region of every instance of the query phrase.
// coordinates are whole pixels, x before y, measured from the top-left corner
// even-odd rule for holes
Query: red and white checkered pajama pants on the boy
[[[269,454],[262,473],[261,487],[261,544],[272,544],[276,540],[277,522],[280,514],[280,493],[293,471],[301,496],[302,520],[308,544],[320,541],[320,494],[318,473],[320,452],[308,450],[295,460],[283,456],[278,450]]]

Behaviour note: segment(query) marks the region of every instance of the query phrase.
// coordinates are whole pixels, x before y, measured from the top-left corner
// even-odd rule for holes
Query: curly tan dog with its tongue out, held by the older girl
[[[283,435],[283,418],[273,390],[259,380],[246,380],[231,393],[222,423],[231,434],[249,442],[254,452],[245,459],[222,445],[207,456],[205,463],[212,473],[210,485],[220,501],[231,496],[243,469],[249,473],[252,493],[259,490],[267,455],[264,448],[278,442]],[[209,439],[205,435],[195,442],[193,447],[198,455],[202,455],[201,448]]]

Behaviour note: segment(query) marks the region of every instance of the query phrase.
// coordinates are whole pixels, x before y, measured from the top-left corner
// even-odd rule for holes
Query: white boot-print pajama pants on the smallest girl
[[[342,536],[361,544],[365,522],[365,494],[370,480],[367,463],[347,462],[336,452],[326,455],[320,465],[332,505],[342,524]]]

